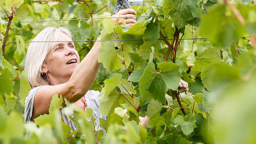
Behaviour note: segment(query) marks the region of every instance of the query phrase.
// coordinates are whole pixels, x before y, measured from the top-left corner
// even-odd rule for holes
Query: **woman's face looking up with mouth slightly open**
[[[57,41],[72,41],[68,35],[60,32]],[[47,54],[42,71],[55,84],[66,83],[80,63],[73,42],[55,42]],[[56,83],[57,82],[57,83]]]

